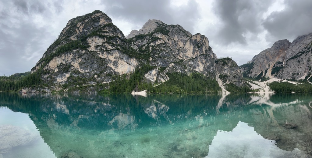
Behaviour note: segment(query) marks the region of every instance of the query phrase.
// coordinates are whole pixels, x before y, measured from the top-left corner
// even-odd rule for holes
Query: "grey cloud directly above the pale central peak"
[[[169,25],[179,24],[192,32],[194,20],[200,17],[197,2],[191,0],[179,7],[171,7],[168,0],[106,0],[103,3],[108,6],[105,13],[109,16],[121,18],[140,26],[143,26],[149,19],[158,19]]]

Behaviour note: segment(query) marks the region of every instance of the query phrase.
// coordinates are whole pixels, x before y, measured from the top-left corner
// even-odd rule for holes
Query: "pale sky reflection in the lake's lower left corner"
[[[54,156],[27,114],[0,108],[0,157]]]

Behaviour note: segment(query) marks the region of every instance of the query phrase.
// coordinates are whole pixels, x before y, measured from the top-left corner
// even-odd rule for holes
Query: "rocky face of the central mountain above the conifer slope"
[[[129,35],[132,36],[131,33]],[[217,60],[217,56],[212,52],[208,39],[201,34],[190,34],[180,25],[167,25],[160,20],[149,20],[137,35],[128,38],[128,41],[141,55],[139,61],[157,67],[152,71],[158,80],[166,80],[165,74],[168,72],[199,72],[208,77],[215,76],[214,61]],[[159,71],[159,68],[162,71]]]

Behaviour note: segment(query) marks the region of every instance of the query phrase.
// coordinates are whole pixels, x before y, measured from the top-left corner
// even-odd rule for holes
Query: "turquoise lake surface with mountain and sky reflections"
[[[311,157],[312,95],[0,92],[0,158]]]

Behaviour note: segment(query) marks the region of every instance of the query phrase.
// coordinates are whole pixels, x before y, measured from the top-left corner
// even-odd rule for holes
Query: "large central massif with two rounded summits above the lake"
[[[236,62],[218,59],[204,35],[149,20],[126,38],[101,11],[69,20],[32,68],[32,74],[41,78],[41,91],[75,93],[151,89],[169,76],[194,78],[196,73],[207,85],[219,77],[226,85],[246,85]],[[194,84],[188,91],[200,89],[200,83]],[[38,87],[28,90],[38,91]]]

